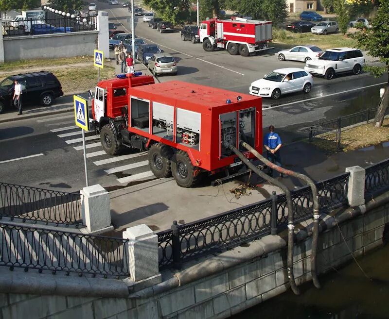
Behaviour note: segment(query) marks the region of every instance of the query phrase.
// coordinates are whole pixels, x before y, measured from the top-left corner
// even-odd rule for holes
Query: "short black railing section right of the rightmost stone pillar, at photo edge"
[[[365,170],[365,198],[389,189],[389,160],[368,166]]]

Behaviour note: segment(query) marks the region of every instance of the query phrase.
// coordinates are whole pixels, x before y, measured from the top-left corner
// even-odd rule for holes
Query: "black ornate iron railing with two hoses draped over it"
[[[349,173],[320,181],[318,187],[321,211],[339,207],[347,202]],[[307,186],[292,191],[296,222],[311,218],[313,201]],[[230,248],[286,228],[285,195],[275,192],[269,200],[235,209],[227,213],[197,220],[182,226],[175,221],[171,230],[158,233],[159,267],[179,267],[183,261],[221,249]]]

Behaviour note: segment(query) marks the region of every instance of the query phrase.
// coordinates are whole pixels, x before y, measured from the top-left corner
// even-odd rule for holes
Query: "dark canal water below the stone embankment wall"
[[[389,244],[230,319],[389,319]]]

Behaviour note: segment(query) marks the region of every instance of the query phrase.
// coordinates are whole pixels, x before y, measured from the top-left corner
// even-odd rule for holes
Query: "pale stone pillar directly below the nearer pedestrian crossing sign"
[[[82,220],[88,232],[96,234],[112,228],[108,192],[101,185],[92,185],[80,193]]]

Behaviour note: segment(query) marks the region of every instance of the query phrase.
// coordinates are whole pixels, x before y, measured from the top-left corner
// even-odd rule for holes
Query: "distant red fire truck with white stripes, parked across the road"
[[[201,22],[199,29],[203,49],[227,49],[231,55],[248,56],[250,53],[269,49],[273,39],[272,22],[231,17],[218,20],[216,17]]]

